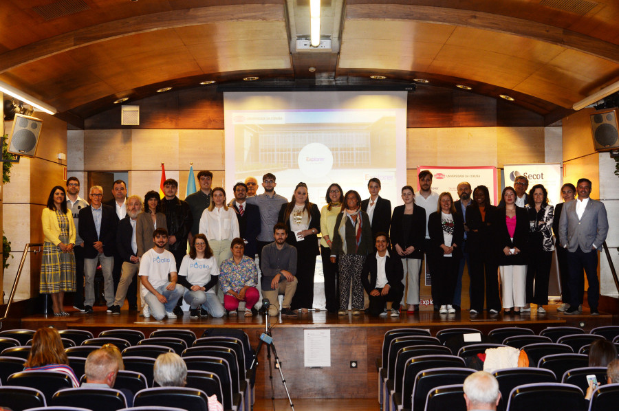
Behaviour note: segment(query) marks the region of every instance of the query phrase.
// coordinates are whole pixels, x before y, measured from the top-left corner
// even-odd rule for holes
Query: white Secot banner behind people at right
[[[506,187],[513,187],[516,177],[523,176],[529,180],[527,191],[536,184],[542,184],[548,191],[548,202],[561,203],[563,185],[561,163],[505,164],[503,170],[503,182]]]

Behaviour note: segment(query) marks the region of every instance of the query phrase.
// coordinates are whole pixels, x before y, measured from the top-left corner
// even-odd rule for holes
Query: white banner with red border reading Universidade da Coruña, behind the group
[[[429,170],[433,175],[432,191],[438,194],[448,191],[451,193],[453,201],[458,200],[458,184],[466,181],[473,189],[477,186],[488,187],[492,204],[496,206],[499,203],[497,200],[499,194],[496,167],[417,166],[417,177],[423,170]],[[419,188],[419,178],[417,178],[417,191]]]

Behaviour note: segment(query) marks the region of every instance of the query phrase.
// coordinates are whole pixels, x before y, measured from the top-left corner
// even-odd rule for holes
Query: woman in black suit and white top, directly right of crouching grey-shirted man
[[[296,292],[290,309],[307,313],[314,304],[314,270],[318,251],[318,232],[321,231],[321,212],[310,203],[305,183],[294,188],[290,203],[282,204],[279,223],[287,227],[286,241],[296,248]]]

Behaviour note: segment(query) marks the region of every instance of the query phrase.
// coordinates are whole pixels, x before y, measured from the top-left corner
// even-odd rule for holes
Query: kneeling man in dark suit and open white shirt
[[[400,311],[395,307],[399,307],[404,292],[402,261],[389,254],[387,233],[376,233],[374,246],[376,253],[367,256],[361,271],[361,282],[369,297],[369,314],[387,317],[385,303],[391,301],[391,317],[399,317]]]

